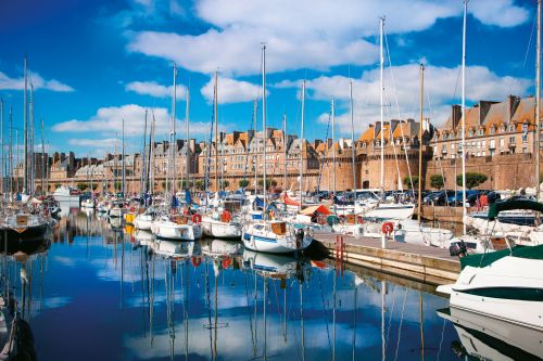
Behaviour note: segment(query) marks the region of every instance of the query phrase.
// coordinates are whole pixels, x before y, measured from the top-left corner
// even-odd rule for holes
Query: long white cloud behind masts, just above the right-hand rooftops
[[[391,73],[392,72],[392,73]],[[426,66],[425,113],[434,125],[441,125],[450,114],[451,104],[459,102],[459,67]],[[386,69],[386,118],[418,117],[419,65],[407,64]],[[394,82],[392,82],[392,75]],[[457,82],[458,81],[458,82]],[[350,133],[349,82],[343,76],[318,77],[306,81],[308,96],[317,100],[339,100],[336,124],[340,133]],[[466,99],[473,103],[479,100],[502,101],[508,94],[526,95],[531,80],[501,77],[484,66],[466,68]],[[395,89],[394,89],[394,86]],[[281,81],[275,87],[300,87],[300,80]],[[455,90],[456,88],[456,90]],[[396,99],[400,109],[396,107]],[[354,120],[359,134],[369,123],[379,120],[380,82],[379,70],[365,72],[359,79],[353,79]],[[431,104],[428,104],[429,101]],[[430,106],[431,105],[431,108]],[[328,123],[328,114],[321,114],[320,123]]]

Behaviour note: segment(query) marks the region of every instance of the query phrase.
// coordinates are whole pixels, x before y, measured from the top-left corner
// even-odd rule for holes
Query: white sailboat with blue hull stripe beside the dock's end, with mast
[[[262,124],[263,134],[266,133],[266,46],[262,47]],[[303,114],[303,112],[302,112]],[[302,115],[303,117],[303,115]],[[302,121],[303,123],[303,121]],[[264,146],[264,217],[243,227],[243,244],[245,248],[276,254],[293,253],[307,248],[313,242],[310,228],[296,229],[282,220],[269,219],[267,212],[266,190],[266,146]]]

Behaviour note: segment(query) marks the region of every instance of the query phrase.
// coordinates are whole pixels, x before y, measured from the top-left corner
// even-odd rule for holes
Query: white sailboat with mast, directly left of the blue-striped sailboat
[[[215,186],[218,190],[218,181],[217,181],[217,175],[218,175],[218,163],[216,162],[216,155],[218,153],[218,142],[217,142],[217,93],[218,93],[218,88],[217,88],[217,72],[215,72],[215,87],[214,87],[214,117],[215,117]],[[188,111],[187,111],[188,114]],[[187,121],[188,121],[188,116],[187,116]],[[188,137],[187,137],[188,139]],[[188,144],[187,144],[187,152],[188,150]],[[210,144],[210,152],[211,152],[211,144]],[[223,166],[222,166],[223,167]],[[188,163],[187,163],[187,169],[188,169]],[[188,170],[187,170],[188,172]],[[188,182],[187,182],[188,183]],[[226,207],[220,205],[220,199],[218,192],[215,192],[215,197],[214,197],[214,207],[207,211],[202,217],[202,232],[205,235],[212,236],[212,237],[218,237],[218,238],[240,238],[241,237],[241,222],[240,220],[235,217]]]

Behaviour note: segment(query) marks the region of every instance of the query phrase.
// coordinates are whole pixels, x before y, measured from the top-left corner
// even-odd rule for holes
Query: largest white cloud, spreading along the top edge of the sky
[[[484,1],[484,3],[490,0]],[[510,27],[528,20],[528,11],[512,0],[497,7],[473,7],[472,15],[487,25]],[[488,10],[492,8],[492,10]],[[471,9],[471,8],[470,8]],[[197,15],[212,28],[200,35],[137,33],[128,49],[176,61],[192,72],[210,74],[260,73],[261,42],[268,46],[267,69],[314,68],[327,70],[341,64],[368,65],[377,60],[371,38],[378,16],[387,15],[388,34],[430,28],[437,20],[459,16],[459,1],[389,0],[201,0]],[[408,16],[406,16],[408,14]],[[489,15],[490,14],[490,15]]]

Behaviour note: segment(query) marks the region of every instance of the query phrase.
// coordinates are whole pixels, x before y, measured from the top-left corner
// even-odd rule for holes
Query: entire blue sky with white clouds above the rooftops
[[[467,98],[533,93],[535,0],[468,4]],[[460,0],[21,0],[0,11],[0,98],[23,125],[23,59],[35,86],[35,118],[52,151],[113,152],[122,119],[127,147],[141,144],[153,108],[157,139],[167,131],[173,63],[179,66],[178,137],[185,137],[190,85],[192,137],[207,138],[213,72],[219,70],[220,127],[251,127],[262,93],[261,42],[267,43],[267,119],[300,131],[300,80],[307,79],[306,132],[326,137],[330,99],[337,131],[355,136],[379,118],[378,16],[386,16],[386,99],[390,117],[418,117],[418,64],[426,72],[425,113],[442,124],[459,102]],[[390,64],[388,64],[390,65]],[[262,111],[258,112],[262,127]]]

